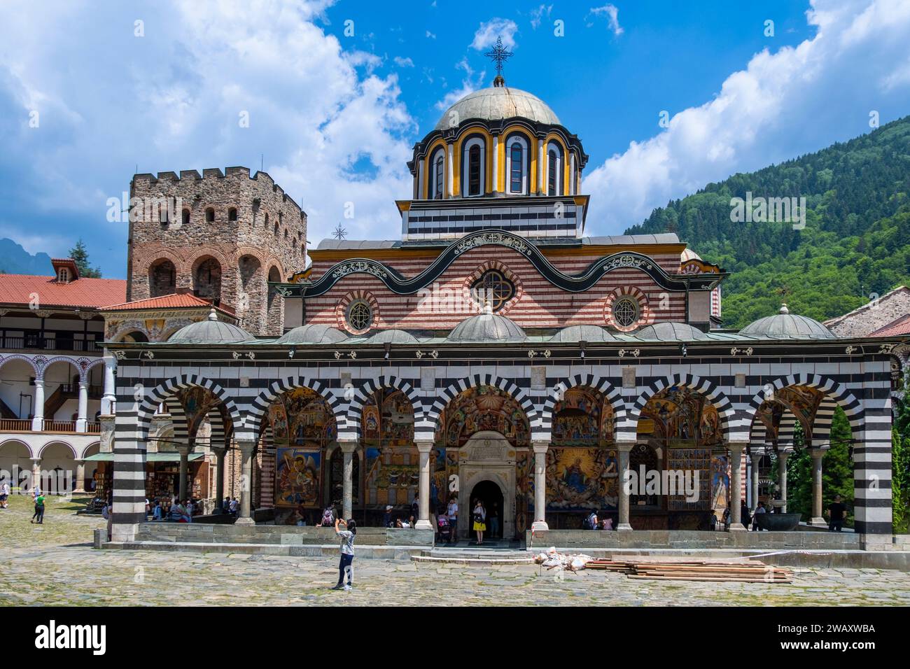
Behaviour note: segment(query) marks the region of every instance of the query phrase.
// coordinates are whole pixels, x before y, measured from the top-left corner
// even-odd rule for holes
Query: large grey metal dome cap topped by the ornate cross
[[[499,121],[512,117],[528,118],[548,126],[561,125],[559,117],[540,97],[518,88],[491,86],[462,97],[446,110],[433,129],[445,130],[469,118]]]

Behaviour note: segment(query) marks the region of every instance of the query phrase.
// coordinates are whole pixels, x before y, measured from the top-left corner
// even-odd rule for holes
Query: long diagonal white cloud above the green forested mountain
[[[701,106],[591,170],[589,227],[615,232],[653,208],[738,171],[751,171],[868,132],[869,112],[906,113],[910,3],[815,0],[816,34],[755,54]],[[654,110],[655,127],[659,111]]]

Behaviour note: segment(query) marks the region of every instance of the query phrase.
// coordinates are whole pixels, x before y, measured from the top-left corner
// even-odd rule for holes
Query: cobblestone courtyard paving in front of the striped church
[[[355,561],[355,588],[335,592],[336,560],[91,548],[101,518],[76,516],[82,500],[49,498],[44,525],[29,523],[31,500],[0,511],[0,603],[156,605],[562,604],[908,605],[910,573],[797,569],[793,584],[633,581],[606,572],[566,573],[532,565],[467,567]]]

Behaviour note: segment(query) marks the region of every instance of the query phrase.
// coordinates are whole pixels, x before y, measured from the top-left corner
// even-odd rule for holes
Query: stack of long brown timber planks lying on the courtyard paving
[[[737,583],[792,583],[793,572],[758,560],[591,560],[585,569],[625,573],[629,578],[655,581],[731,581]]]

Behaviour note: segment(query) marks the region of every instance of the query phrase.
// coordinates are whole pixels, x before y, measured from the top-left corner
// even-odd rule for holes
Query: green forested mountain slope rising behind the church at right
[[[731,198],[805,197],[804,229],[734,223]],[[910,117],[843,144],[736,174],[655,209],[626,232],[676,232],[723,282],[724,327],[740,328],[787,302],[824,320],[910,283]]]

